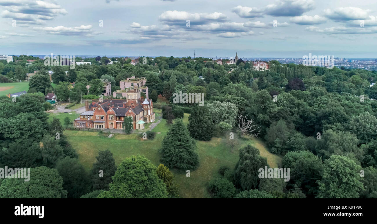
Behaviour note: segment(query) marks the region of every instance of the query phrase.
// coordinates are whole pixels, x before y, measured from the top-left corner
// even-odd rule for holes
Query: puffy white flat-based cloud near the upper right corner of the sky
[[[340,7],[334,10],[325,9],[323,12],[327,18],[336,21],[363,20],[368,18],[368,11],[356,7]]]

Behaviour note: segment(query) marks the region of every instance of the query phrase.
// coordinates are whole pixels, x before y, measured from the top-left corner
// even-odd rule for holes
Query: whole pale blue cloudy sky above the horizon
[[[377,58],[375,0],[0,0],[0,24],[10,55]]]

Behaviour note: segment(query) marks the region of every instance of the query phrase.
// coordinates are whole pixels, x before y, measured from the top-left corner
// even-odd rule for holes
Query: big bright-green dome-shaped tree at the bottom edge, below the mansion
[[[164,182],[158,179],[156,166],[144,156],[131,156],[121,162],[109,191],[98,198],[167,198]]]

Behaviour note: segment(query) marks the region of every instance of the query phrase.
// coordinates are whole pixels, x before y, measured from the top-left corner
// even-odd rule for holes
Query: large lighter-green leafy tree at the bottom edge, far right
[[[358,198],[364,189],[361,167],[345,157],[332,155],[325,160],[322,180],[319,180],[317,198]]]

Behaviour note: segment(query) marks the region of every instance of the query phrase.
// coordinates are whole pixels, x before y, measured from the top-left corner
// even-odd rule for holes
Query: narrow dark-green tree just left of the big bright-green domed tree
[[[99,151],[96,157],[97,161],[93,163],[90,171],[94,190],[109,190],[109,183],[112,182],[111,177],[116,171],[115,160],[110,150]]]

